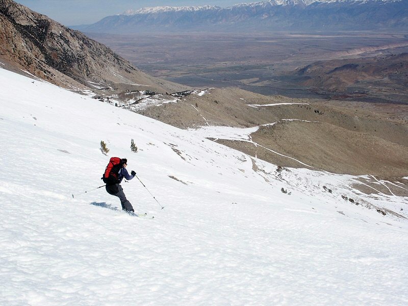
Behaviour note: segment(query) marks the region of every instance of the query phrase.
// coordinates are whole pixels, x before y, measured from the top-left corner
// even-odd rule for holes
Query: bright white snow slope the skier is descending
[[[408,303],[407,221],[341,195],[403,213],[406,198],[278,172],[205,139],[214,127],[179,130],[4,69],[0,84],[0,304]],[[95,189],[110,156],[165,208],[136,178],[122,186],[147,217]]]

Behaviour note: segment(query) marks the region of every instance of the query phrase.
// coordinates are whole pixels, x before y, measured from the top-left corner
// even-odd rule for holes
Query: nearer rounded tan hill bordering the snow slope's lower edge
[[[284,121],[262,127],[254,142],[305,164],[334,173],[373,174],[402,177],[408,170],[408,148],[368,133],[353,132],[325,122]],[[258,148],[261,159],[273,153]],[[283,158],[281,159],[283,161]],[[284,162],[301,166],[294,160]]]

